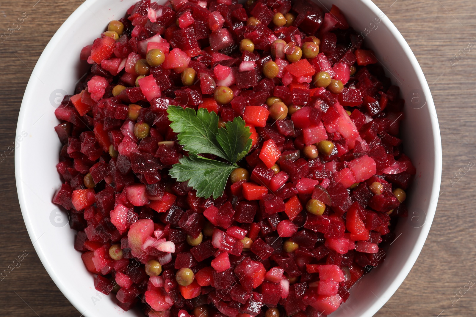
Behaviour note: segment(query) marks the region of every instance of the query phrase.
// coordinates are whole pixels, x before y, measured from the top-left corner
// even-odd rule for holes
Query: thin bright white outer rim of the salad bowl
[[[48,60],[50,52],[58,45],[59,40],[62,36],[64,36],[68,30],[73,26],[75,21],[80,19],[80,17],[87,11],[89,10],[89,5],[100,1],[100,0],[86,0],[83,2],[83,5],[80,5],[69,17],[66,19],[63,24],[60,26],[60,28],[56,31],[56,33],[53,35],[53,37],[50,39],[49,43],[41,53],[40,58],[38,59],[32,74],[30,76],[30,79],[28,81],[28,85],[25,89],[25,93],[22,99],[22,103],[20,106],[20,112],[18,116],[18,123],[17,123],[17,134],[19,134],[23,130],[23,124],[25,121],[26,116],[28,115],[27,113],[27,103],[28,99],[30,98],[31,92],[34,89],[34,86],[37,85],[35,82],[36,80],[34,79],[34,74],[40,72],[40,69],[45,66],[46,60]],[[320,2],[319,0],[315,0],[317,2]],[[378,14],[383,13],[382,10],[380,10],[375,3],[373,3],[371,0],[359,0],[362,2],[369,10],[371,10],[376,16]],[[322,3],[321,3],[322,5]],[[369,306],[365,313],[362,316],[373,316],[377,311],[385,305],[387,300],[396,292],[397,288],[402,284],[403,280],[407,277],[408,273],[412,269],[413,265],[415,264],[418,255],[420,254],[423,245],[425,244],[426,238],[428,236],[429,230],[431,228],[431,223],[433,222],[433,218],[436,212],[436,205],[438,202],[439,198],[439,192],[440,192],[440,183],[441,183],[441,173],[442,173],[442,147],[441,147],[441,135],[440,135],[440,129],[439,129],[439,123],[436,115],[436,109],[435,105],[433,102],[433,98],[431,96],[430,88],[428,86],[428,83],[426,81],[425,75],[423,74],[423,71],[418,64],[417,58],[413,54],[411,48],[409,47],[407,41],[403,38],[401,33],[398,31],[397,27],[388,19],[387,15],[383,15],[383,18],[381,19],[384,25],[388,28],[392,36],[397,40],[398,45],[400,45],[403,50],[405,51],[406,57],[411,63],[411,66],[415,70],[415,73],[417,74],[417,79],[419,83],[422,86],[422,90],[424,95],[426,96],[426,104],[429,109],[430,113],[430,122],[431,122],[431,127],[432,127],[432,134],[434,138],[434,149],[435,149],[435,170],[434,170],[434,177],[433,177],[433,183],[432,183],[432,190],[431,190],[431,197],[429,197],[430,203],[428,205],[428,210],[426,212],[426,223],[422,228],[422,231],[420,232],[417,240],[415,241],[415,244],[413,246],[413,250],[410,253],[410,256],[407,258],[405,265],[403,268],[400,270],[398,273],[397,277],[392,281],[390,286],[385,290],[383,295],[378,298],[378,301],[375,301],[373,305]],[[18,198],[19,198],[19,203],[20,203],[20,209],[22,212],[23,220],[25,222],[28,234],[30,236],[30,240],[33,243],[33,247],[35,248],[41,263],[43,264],[44,268],[50,275],[51,279],[54,281],[56,286],[61,290],[63,295],[68,298],[69,302],[76,307],[79,312],[86,312],[88,309],[83,301],[75,297],[72,293],[71,290],[69,289],[68,286],[66,286],[61,279],[57,276],[55,270],[51,268],[49,265],[49,259],[45,256],[41,244],[35,245],[35,242],[40,239],[40,237],[34,236],[34,225],[31,222],[31,219],[28,216],[27,213],[27,205],[25,201],[25,196],[28,194],[25,193],[25,190],[28,188],[28,186],[21,181],[22,179],[22,173],[23,173],[23,166],[21,165],[21,160],[20,158],[22,157],[22,147],[20,146],[18,149],[15,150],[15,178],[16,178],[16,185],[17,185],[17,192],[18,192]]]

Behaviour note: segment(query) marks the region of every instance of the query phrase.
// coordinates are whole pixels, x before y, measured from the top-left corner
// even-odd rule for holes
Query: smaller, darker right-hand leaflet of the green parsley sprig
[[[238,162],[251,149],[251,132],[241,117],[226,123],[226,129],[218,129],[217,140],[227,155],[228,162]]]

